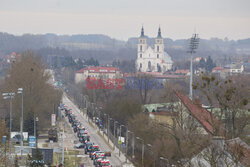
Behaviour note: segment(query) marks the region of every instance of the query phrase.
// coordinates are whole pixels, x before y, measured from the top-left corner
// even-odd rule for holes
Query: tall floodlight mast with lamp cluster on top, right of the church
[[[189,98],[193,99],[193,54],[195,53],[195,50],[198,48],[199,45],[199,38],[198,34],[194,34],[192,38],[190,39],[189,44],[189,51],[190,53],[190,83],[189,83]]]

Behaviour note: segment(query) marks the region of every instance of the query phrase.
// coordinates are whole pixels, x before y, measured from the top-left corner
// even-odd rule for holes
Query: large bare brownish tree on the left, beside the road
[[[33,133],[34,117],[39,117],[39,126],[48,127],[50,117],[60,104],[62,93],[50,83],[50,71],[45,69],[41,58],[32,52],[25,52],[8,70],[2,92],[16,92],[23,88],[24,131]],[[8,108],[8,104],[6,104]],[[19,130],[21,115],[21,96],[13,100],[13,130]],[[32,124],[32,125],[31,125]]]

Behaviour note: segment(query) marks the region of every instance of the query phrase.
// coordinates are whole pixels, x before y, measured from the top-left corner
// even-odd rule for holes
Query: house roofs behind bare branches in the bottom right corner
[[[240,138],[225,140],[215,136],[211,144],[185,163],[185,167],[248,167],[250,147]]]

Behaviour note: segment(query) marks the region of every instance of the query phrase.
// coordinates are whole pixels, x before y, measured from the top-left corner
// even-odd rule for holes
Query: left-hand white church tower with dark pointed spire
[[[145,52],[147,50],[147,39],[144,35],[144,28],[141,28],[141,36],[138,39],[138,45],[137,45],[137,70],[141,71],[142,68],[144,68],[142,66],[142,62],[143,62],[143,58],[145,57]]]

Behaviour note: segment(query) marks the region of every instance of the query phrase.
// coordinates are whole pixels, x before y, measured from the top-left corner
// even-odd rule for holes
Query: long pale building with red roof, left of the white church
[[[116,67],[85,67],[75,73],[75,83],[84,82],[88,77],[118,79],[123,77],[123,73]]]

